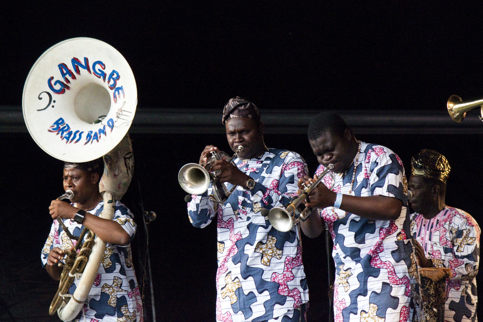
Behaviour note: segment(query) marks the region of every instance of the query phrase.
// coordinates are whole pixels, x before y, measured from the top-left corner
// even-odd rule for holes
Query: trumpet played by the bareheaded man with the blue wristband
[[[309,207],[302,208],[301,205],[303,205],[302,203],[308,198],[309,193],[317,187],[325,176],[330,176],[332,178],[332,185],[329,190],[334,188],[334,175],[329,172],[333,167],[334,165],[330,163],[327,166],[327,169],[317,177],[317,180],[306,186],[305,190],[303,190],[298,196],[293,197],[287,206],[271,208],[268,216],[270,224],[279,232],[288,232],[294,227],[294,225],[297,225],[300,220],[307,220],[312,209]]]

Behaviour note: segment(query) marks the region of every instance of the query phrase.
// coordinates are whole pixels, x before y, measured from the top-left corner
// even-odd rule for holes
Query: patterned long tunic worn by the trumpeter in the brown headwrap
[[[297,153],[273,148],[260,158],[234,161],[255,180],[255,187],[237,187],[218,205],[209,197],[210,186],[203,195],[192,196],[188,215],[200,228],[218,217],[216,320],[266,321],[309,300],[298,229],[279,232],[261,212],[288,203],[297,193],[298,179],[308,173],[307,165]]]

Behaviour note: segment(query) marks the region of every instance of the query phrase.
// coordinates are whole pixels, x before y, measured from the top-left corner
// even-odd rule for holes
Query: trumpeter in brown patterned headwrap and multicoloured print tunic
[[[206,227],[217,216],[216,321],[306,321],[309,293],[298,229],[281,233],[268,220],[273,206],[289,202],[297,181],[307,174],[295,152],[267,148],[263,123],[253,102],[235,97],[223,111],[228,144],[243,146],[232,163],[215,162],[220,181],[238,186],[225,203],[214,202],[213,188],[192,195],[188,204],[193,226]],[[215,146],[206,146],[199,164]],[[263,210],[263,211],[262,211]]]

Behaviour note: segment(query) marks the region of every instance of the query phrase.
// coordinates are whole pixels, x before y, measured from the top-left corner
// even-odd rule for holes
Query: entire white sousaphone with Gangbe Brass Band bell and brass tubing
[[[114,47],[92,38],[72,38],[50,47],[25,82],[25,123],[45,152],[69,162],[104,156],[101,218],[113,218],[115,200],[124,195],[132,178],[134,157],[127,132],[136,105],[136,81],[128,62]],[[87,231],[79,254],[65,251],[70,260],[49,309],[63,321],[81,311],[104,256],[106,243]],[[74,277],[77,286],[70,295]]]

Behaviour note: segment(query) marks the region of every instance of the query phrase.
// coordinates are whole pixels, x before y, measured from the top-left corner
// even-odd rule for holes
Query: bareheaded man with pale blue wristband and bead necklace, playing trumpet
[[[409,270],[415,264],[402,230],[407,204],[402,162],[385,146],[358,141],[335,113],[314,117],[308,137],[320,163],[315,176],[333,164],[335,177],[333,190],[319,184],[309,193],[305,205],[314,210],[301,222],[313,238],[325,221],[333,238],[335,321],[411,321]],[[309,179],[299,181],[300,190]]]

